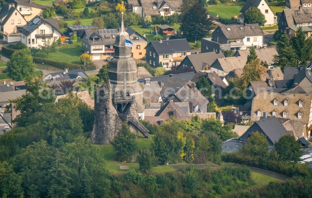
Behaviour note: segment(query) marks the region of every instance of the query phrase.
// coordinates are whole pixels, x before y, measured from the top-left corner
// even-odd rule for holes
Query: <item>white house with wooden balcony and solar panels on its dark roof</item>
[[[21,32],[21,42],[28,48],[37,48],[48,40],[52,44],[62,35],[57,19],[43,19],[40,16],[35,16],[18,31]]]

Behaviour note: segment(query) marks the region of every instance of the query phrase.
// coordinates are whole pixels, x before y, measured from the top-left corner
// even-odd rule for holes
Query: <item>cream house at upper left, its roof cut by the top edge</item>
[[[46,7],[32,2],[32,0],[8,0],[7,3],[14,4],[14,7],[25,17],[26,21],[30,21],[37,15],[41,15],[42,10]]]

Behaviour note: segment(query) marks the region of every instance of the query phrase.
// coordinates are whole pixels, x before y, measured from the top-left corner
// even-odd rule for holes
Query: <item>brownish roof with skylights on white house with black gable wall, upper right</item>
[[[235,24],[235,25],[221,25],[219,26],[223,34],[227,39],[244,38],[246,36],[260,36],[263,35],[263,31],[259,24]],[[227,29],[230,30],[227,30]],[[243,28],[243,29],[241,29]],[[215,31],[214,31],[215,32]]]

